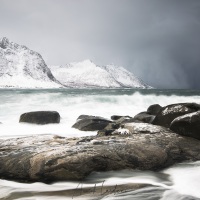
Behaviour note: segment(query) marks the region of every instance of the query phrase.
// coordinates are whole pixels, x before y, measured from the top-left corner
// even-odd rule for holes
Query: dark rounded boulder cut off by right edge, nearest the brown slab
[[[172,121],[170,129],[200,140],[200,111],[177,117]]]

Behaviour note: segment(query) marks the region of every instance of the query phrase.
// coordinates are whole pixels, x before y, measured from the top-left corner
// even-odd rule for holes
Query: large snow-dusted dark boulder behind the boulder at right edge
[[[152,124],[169,128],[175,118],[198,110],[200,110],[200,105],[196,103],[171,104],[160,110]]]

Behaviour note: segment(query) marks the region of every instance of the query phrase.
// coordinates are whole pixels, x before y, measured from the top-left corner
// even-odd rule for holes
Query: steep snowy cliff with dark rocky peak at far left
[[[42,56],[25,46],[0,39],[0,87],[57,88]]]

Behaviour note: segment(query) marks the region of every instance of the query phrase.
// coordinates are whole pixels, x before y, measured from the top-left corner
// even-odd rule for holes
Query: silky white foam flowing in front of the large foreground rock
[[[139,200],[197,200],[200,198],[199,193],[199,178],[200,178],[200,163],[194,162],[189,164],[179,164],[171,167],[163,172],[150,171],[110,171],[110,172],[96,172],[91,174],[87,180],[79,182],[58,182],[54,184],[45,183],[17,183],[14,181],[0,180],[0,198],[9,199],[11,194],[18,194],[20,200],[23,199],[72,199],[72,196],[56,196],[56,192],[75,190],[80,188],[101,187],[103,190],[106,186],[113,186],[121,184],[149,184],[152,186],[138,189],[136,191],[127,190],[124,192],[113,192],[107,196],[102,196],[97,199],[139,199]],[[47,194],[40,195],[40,192],[47,192]],[[48,192],[51,195],[48,195]],[[54,193],[55,192],[55,193]],[[23,195],[24,193],[24,195]],[[55,196],[54,196],[55,195]],[[23,198],[26,196],[26,198]],[[7,197],[7,198],[6,198]],[[91,196],[78,196],[75,199],[95,199],[96,194]]]

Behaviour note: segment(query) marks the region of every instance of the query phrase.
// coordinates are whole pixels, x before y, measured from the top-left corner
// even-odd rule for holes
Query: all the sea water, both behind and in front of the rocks
[[[146,111],[152,104],[166,106],[172,103],[200,103],[199,90],[139,90],[139,89],[1,89],[0,90],[0,139],[23,137],[33,134],[56,134],[65,137],[95,135],[71,128],[81,114],[102,116],[134,116]],[[22,113],[52,110],[61,116],[60,124],[31,125],[19,123]],[[161,176],[164,175],[164,176]],[[161,178],[162,177],[162,178]],[[163,178],[165,177],[165,178]],[[123,170],[94,172],[83,187],[92,187],[104,181],[105,186],[117,184],[149,184],[130,191],[111,193],[86,199],[149,199],[186,200],[200,199],[200,163],[181,163],[162,172]],[[92,183],[91,183],[92,182]],[[17,183],[0,180],[0,199],[43,200],[83,199],[59,195],[59,191],[72,190],[78,182]]]

